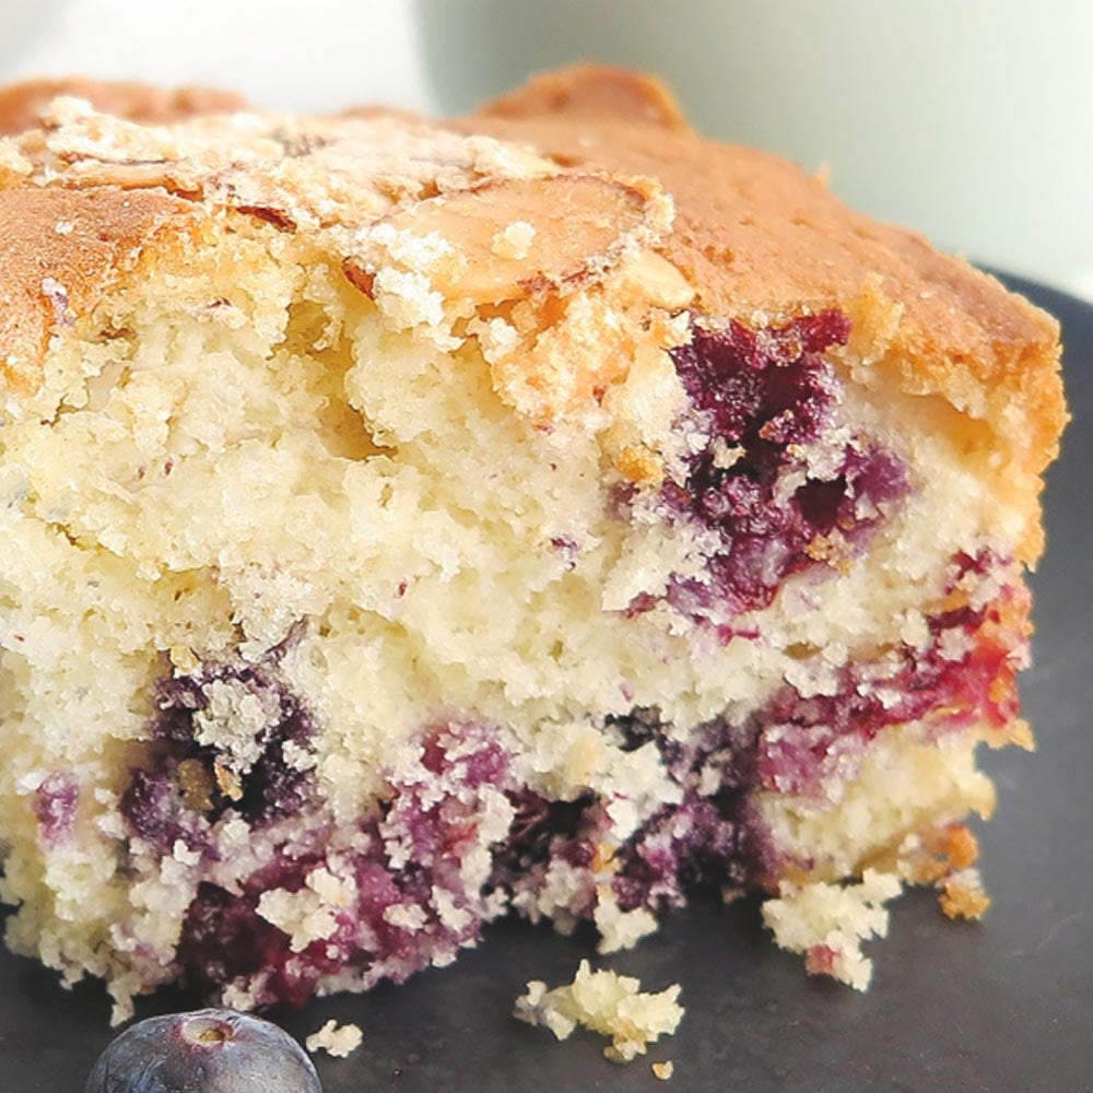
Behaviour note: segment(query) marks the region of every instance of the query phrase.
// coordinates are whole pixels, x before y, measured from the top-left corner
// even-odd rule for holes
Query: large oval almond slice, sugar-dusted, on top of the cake
[[[543,290],[572,290],[601,279],[622,259],[651,246],[671,224],[671,202],[656,184],[603,175],[507,178],[430,198],[383,223],[403,245],[375,244],[350,260],[356,284],[392,260],[404,265],[407,240],[444,239],[431,261],[434,290],[475,306],[524,299]],[[519,257],[495,240],[513,224],[528,225]],[[378,235],[378,233],[377,233]],[[379,238],[383,238],[381,236]],[[375,252],[378,249],[380,252]],[[386,252],[384,252],[386,251]],[[364,275],[362,275],[364,274]]]

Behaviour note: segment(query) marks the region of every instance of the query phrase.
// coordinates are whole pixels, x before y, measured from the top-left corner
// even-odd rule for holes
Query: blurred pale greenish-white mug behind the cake
[[[602,60],[857,208],[1093,297],[1089,0],[418,0],[436,106]]]

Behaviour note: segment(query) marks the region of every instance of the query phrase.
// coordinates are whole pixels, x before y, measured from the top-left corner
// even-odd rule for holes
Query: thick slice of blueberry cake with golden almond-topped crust
[[[298,1004],[694,892],[865,986],[1031,747],[1044,314],[600,69],[0,141],[8,942]]]

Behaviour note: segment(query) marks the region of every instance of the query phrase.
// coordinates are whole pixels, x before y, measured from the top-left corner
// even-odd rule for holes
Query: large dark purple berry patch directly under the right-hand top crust
[[[683,481],[662,497],[672,519],[691,519],[717,533],[707,580],[675,578],[668,602],[695,621],[766,607],[781,581],[853,551],[883,507],[907,490],[901,462],[861,439],[844,443],[834,470],[808,471],[801,448],[823,440],[832,424],[839,380],[823,354],[846,343],[850,324],[838,310],[803,316],[780,327],[720,330],[694,327],[672,351],[677,372],[708,431]],[[789,484],[789,475],[803,481]],[[632,610],[654,604],[636,601]]]

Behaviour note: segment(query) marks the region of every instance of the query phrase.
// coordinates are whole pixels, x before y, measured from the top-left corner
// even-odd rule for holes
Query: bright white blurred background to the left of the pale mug
[[[271,109],[427,107],[409,0],[0,0],[0,78],[72,73],[230,87]]]

